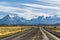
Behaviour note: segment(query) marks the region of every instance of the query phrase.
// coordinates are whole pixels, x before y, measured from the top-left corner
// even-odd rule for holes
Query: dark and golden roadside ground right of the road
[[[45,29],[60,38],[60,26],[47,26]]]

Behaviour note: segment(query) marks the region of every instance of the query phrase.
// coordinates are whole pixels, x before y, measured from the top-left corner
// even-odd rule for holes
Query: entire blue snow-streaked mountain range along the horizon
[[[0,19],[0,25],[40,25],[40,24],[60,24],[60,18],[58,17],[46,17],[39,16],[31,20],[26,20],[19,16],[10,17],[6,15]]]

